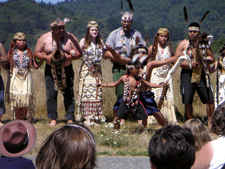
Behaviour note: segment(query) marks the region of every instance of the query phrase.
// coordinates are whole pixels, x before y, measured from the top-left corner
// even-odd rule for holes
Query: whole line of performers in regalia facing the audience
[[[221,69],[221,73],[218,73],[217,106],[224,98],[225,46],[220,51],[221,57],[218,62],[211,67],[210,64],[215,59],[209,38],[206,33],[200,34],[200,25],[205,16],[200,24],[191,23],[188,26],[188,38],[179,43],[174,54],[167,28],[159,28],[153,45],[147,48],[147,38],[144,40],[140,32],[131,28],[132,5],[130,9],[131,12],[121,12],[122,27],[111,32],[106,43],[101,39],[96,21],[88,23],[86,35],[79,43],[73,34],[65,31],[65,25],[71,19],[65,18],[62,21],[57,18],[50,24],[51,31],[38,39],[34,53],[27,47],[25,34],[21,32],[14,35],[8,54],[0,45],[1,64],[9,70],[7,100],[11,103],[15,118],[26,119],[28,116],[33,120],[31,69],[39,68],[45,61],[47,116],[51,119],[50,126],[57,124],[58,91],[61,91],[64,97],[68,123],[75,120],[75,107],[77,121],[85,120],[86,125],[95,126],[99,125],[97,121],[104,122],[106,118],[102,112],[102,87],[116,87],[117,101],[113,107],[115,127],[124,123],[129,113],[137,117],[139,124],[144,127],[147,126],[150,115],[153,115],[162,126],[166,121],[176,123],[172,78],[168,76],[171,77],[179,66],[182,68],[180,90],[187,117],[193,118],[192,102],[197,90],[202,103],[207,104],[210,125],[214,99],[208,72],[213,73]],[[187,17],[187,14],[185,16]],[[82,56],[78,93],[75,99],[72,61]],[[181,56],[186,57],[186,61],[178,62]],[[102,83],[102,58],[112,60],[113,83]],[[170,63],[175,63],[173,69]],[[0,82],[1,120],[5,106],[2,79]],[[159,107],[156,102],[160,102]]]

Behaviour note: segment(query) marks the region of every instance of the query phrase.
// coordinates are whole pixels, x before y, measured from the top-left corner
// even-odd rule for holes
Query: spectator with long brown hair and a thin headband
[[[92,169],[95,141],[84,125],[65,125],[48,136],[36,157],[37,169]]]

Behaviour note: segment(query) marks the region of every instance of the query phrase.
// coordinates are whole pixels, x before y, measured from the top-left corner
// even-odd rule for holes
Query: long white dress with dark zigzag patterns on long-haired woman
[[[80,120],[81,116],[86,120],[95,119],[101,122],[106,120],[102,113],[102,88],[96,87],[96,83],[101,83],[102,81],[102,56],[102,48],[93,43],[83,51],[84,60],[80,68],[76,102],[78,105],[77,120]]]

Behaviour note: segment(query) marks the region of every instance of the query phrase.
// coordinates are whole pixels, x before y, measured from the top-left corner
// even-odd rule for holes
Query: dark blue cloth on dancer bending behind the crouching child
[[[139,99],[142,102],[142,104],[145,106],[145,110],[148,115],[152,115],[155,112],[160,112],[157,108],[157,104],[154,99],[154,93],[151,91],[146,92],[140,92],[139,93]]]

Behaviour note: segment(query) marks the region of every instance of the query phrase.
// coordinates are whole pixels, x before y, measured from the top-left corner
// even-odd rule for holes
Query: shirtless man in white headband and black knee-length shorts
[[[181,41],[176,49],[175,55],[182,55],[183,51],[186,50],[189,46],[195,48],[195,44],[200,35],[200,25],[198,23],[191,23],[188,26],[188,36],[189,38]],[[211,64],[215,61],[213,53],[210,49],[206,51],[206,60],[207,63]],[[193,56],[195,57],[195,55]],[[201,66],[200,62],[191,62],[192,68],[198,68]],[[208,115],[208,125],[211,124],[211,118],[214,110],[213,94],[210,87],[206,87],[206,78],[205,72],[202,71],[200,83],[191,83],[192,70],[189,68],[187,62],[181,64],[181,91],[182,91],[182,102],[185,104],[185,112],[188,119],[193,118],[193,96],[195,90],[197,90],[198,95],[203,104],[206,104],[206,111]]]

